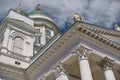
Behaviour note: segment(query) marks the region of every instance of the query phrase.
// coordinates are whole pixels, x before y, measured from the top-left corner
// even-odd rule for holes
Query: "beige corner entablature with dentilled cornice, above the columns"
[[[50,46],[46,49],[45,47],[48,44]],[[88,46],[98,54],[113,56],[115,59],[120,60],[120,45],[82,26],[81,22],[74,23],[54,43],[50,42],[48,44],[39,51],[37,57],[34,58],[34,63],[27,69],[30,76],[35,75],[34,73],[41,75],[42,71],[48,70],[53,64],[74,52],[74,48],[80,44]]]

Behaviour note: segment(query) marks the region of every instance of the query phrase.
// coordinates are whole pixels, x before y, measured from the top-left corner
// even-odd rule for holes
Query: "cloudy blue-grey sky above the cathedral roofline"
[[[16,8],[18,3],[18,0],[1,0],[0,12]],[[66,24],[73,23],[72,18],[76,12],[82,15],[86,22],[107,28],[112,28],[114,22],[120,22],[120,0],[23,0],[22,6],[25,11],[30,12],[38,3],[61,30],[69,26]]]

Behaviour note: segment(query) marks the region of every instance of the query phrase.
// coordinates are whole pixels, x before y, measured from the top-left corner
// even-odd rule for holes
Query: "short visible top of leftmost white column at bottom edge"
[[[62,65],[56,66],[56,80],[69,80]]]

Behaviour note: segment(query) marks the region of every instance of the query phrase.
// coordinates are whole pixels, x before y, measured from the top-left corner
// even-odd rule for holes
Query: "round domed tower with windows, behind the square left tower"
[[[41,12],[40,4],[37,5],[36,10],[29,13],[29,18],[34,20],[35,27],[35,45],[45,45],[55,34],[58,33],[58,28],[50,17]]]

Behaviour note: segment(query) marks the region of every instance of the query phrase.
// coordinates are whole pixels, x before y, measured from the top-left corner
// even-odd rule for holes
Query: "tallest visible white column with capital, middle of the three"
[[[81,79],[82,80],[93,80],[90,65],[88,62],[88,52],[90,50],[85,48],[84,46],[80,46],[77,50],[77,53],[79,55],[78,61],[79,61],[79,67],[80,67],[80,73],[81,73]]]

